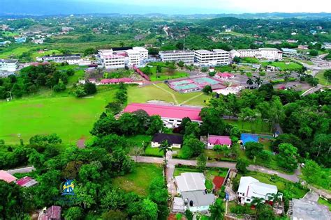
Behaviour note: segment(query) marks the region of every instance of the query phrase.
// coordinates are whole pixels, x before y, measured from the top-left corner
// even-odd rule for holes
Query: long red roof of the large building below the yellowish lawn
[[[159,115],[163,118],[177,118],[180,120],[182,120],[182,118],[189,117],[191,120],[201,120],[199,116],[201,109],[191,107],[131,103],[124,109],[124,112],[133,112],[139,109],[146,111],[149,116]]]

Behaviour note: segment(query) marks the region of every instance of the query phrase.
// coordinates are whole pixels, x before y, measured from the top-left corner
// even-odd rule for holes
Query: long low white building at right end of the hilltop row
[[[267,60],[281,60],[283,52],[277,48],[238,49],[240,57],[265,58]]]

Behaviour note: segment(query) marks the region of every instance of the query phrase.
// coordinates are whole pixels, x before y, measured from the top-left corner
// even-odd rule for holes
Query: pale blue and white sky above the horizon
[[[0,13],[33,15],[331,13],[330,0],[0,0]]]

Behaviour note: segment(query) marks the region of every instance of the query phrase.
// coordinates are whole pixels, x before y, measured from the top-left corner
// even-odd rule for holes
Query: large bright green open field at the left
[[[64,143],[76,143],[89,138],[89,130],[112,101],[116,89],[98,93],[94,97],[73,96],[25,97],[0,102],[0,139],[6,143],[25,143],[35,134],[58,134]],[[20,137],[19,137],[20,136]]]

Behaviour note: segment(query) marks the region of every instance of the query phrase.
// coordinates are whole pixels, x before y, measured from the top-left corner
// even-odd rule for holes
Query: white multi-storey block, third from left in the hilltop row
[[[223,49],[199,49],[194,52],[194,61],[200,66],[228,65],[230,63],[230,53]]]

